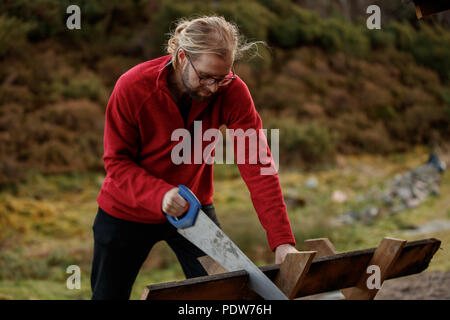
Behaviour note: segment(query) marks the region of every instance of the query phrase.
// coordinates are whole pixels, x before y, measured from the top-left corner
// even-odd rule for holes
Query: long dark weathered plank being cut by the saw
[[[386,280],[408,276],[425,270],[433,255],[439,249],[441,241],[435,238],[408,242],[400,253],[396,263],[386,276]],[[317,293],[340,290],[355,286],[360,275],[372,259],[376,248],[350,251],[312,261],[307,276],[303,280],[296,298]],[[280,270],[280,265],[260,268],[272,281]],[[223,274],[150,285],[145,299],[256,299],[259,297],[249,291],[246,284],[246,271]]]

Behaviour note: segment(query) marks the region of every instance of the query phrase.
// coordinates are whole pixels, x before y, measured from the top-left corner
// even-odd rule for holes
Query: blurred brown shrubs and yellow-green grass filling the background
[[[81,8],[81,30],[66,27],[72,4]],[[381,30],[366,28],[370,4],[381,8]],[[371,174],[374,181],[388,178],[425,161],[427,147],[446,148],[449,14],[418,21],[412,3],[400,0],[4,0],[0,298],[89,298],[90,227],[104,176],[109,94],[126,70],[165,54],[177,18],[203,14],[223,15],[248,39],[268,44],[260,47],[261,57],[237,62],[236,70],[264,128],[280,129],[283,190],[306,194],[307,205],[289,211],[299,248],[312,237],[330,237],[338,250],[376,246],[386,232],[411,224],[408,217],[421,223],[432,209],[450,218],[444,197],[415,215],[386,217],[370,228],[336,231],[327,222],[346,206],[330,202],[333,188],[369,188]],[[361,161],[373,168],[363,177]],[[237,169],[216,167],[215,202],[224,229],[252,259],[272,263]],[[321,186],[315,192],[298,187],[311,174]],[[443,183],[448,188],[448,175]],[[65,289],[70,264],[82,267],[81,291]],[[144,271],[150,269],[140,275],[134,298],[144,284],[183,278],[162,245]]]

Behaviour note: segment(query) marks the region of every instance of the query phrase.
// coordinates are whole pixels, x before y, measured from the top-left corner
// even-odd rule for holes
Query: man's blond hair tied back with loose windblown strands
[[[214,53],[221,57],[230,57],[234,62],[247,51],[256,49],[263,41],[247,42],[239,33],[238,27],[221,16],[202,16],[193,19],[177,20],[175,31],[169,33],[166,50],[172,55],[174,68],[177,67],[177,53],[183,48],[190,56]]]

